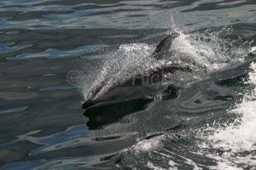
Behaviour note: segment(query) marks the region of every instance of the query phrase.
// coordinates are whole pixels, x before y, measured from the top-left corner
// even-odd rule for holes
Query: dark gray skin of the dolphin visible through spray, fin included
[[[164,40],[161,40],[159,45],[157,45],[156,49],[154,50],[152,58],[160,60],[164,59],[166,56],[173,55],[170,47],[173,44],[173,40],[175,40],[178,36],[178,33],[173,33],[166,36]],[[129,101],[149,97],[152,93],[154,93],[152,92],[152,89],[149,88],[150,84],[160,83],[163,79],[162,76],[165,73],[174,74],[177,71],[192,72],[191,68],[171,64],[163,68],[154,69],[154,71],[152,70],[151,72],[149,71],[147,76],[136,75],[133,78],[127,79],[125,82],[111,87],[103,96],[95,98],[97,93],[101,91],[102,87],[106,85],[106,82],[102,82],[93,90],[92,97],[88,99],[87,102],[84,102],[83,108],[87,109],[90,106],[94,106],[102,102],[123,100]],[[168,98],[177,97],[179,88],[180,87],[171,84],[164,90],[164,92],[169,92]]]

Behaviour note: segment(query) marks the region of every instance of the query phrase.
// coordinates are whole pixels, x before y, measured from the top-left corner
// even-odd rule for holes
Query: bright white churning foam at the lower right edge
[[[202,149],[219,149],[220,154],[209,153],[208,157],[218,161],[217,169],[243,169],[256,166],[256,64],[250,65],[249,83],[253,90],[244,95],[243,101],[236,108],[230,110],[237,118],[234,122],[217,129],[207,137],[206,143],[201,144]]]

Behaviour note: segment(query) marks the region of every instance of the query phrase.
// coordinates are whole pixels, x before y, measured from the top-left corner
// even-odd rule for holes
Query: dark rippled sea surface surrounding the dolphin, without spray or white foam
[[[79,69],[93,77],[99,70],[92,60],[111,59],[120,45],[155,45],[171,18],[184,31],[232,26],[231,37],[255,40],[255,9],[254,0],[2,0],[0,169],[216,166],[214,158],[197,153],[192,130],[234,119],[225,110],[243,96],[249,63],[206,75],[177,99],[87,111],[67,73]]]

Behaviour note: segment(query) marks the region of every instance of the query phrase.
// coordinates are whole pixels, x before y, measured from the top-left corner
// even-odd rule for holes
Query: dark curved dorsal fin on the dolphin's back
[[[166,36],[164,40],[161,40],[152,54],[154,59],[162,59],[165,54],[168,54],[173,40],[175,40],[178,35],[178,33],[174,32],[171,35]]]

